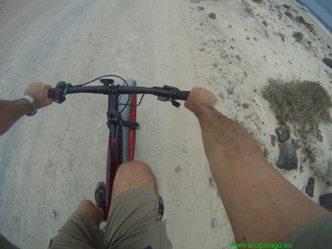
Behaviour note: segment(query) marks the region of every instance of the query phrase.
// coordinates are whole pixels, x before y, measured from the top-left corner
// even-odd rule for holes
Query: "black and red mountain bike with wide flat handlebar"
[[[117,77],[124,81],[124,85],[114,84],[109,77]],[[103,86],[85,86],[91,82],[100,80]],[[126,85],[125,85],[126,84]],[[85,86],[85,87],[84,87]],[[134,159],[136,130],[140,130],[140,124],[136,122],[136,107],[140,105],[145,94],[158,96],[158,101],[170,101],[173,106],[179,107],[177,99],[186,101],[190,91],[180,91],[176,87],[164,85],[163,87],[137,87],[133,79],[125,81],[115,75],[106,75],[89,81],[82,85],[72,86],[61,81],[53,89],[49,89],[48,97],[62,104],[67,94],[74,93],[99,93],[108,95],[107,126],[109,131],[107,170],[106,170],[106,220],[111,206],[112,189],[118,167]],[[123,94],[123,95],[121,95]],[[128,95],[124,95],[128,94]],[[137,94],[143,94],[137,103]],[[125,106],[121,108],[121,106]],[[122,109],[122,110],[121,110]],[[120,111],[121,110],[121,111]]]

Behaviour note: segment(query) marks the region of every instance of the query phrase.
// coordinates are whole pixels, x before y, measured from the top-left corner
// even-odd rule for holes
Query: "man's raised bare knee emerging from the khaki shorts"
[[[159,203],[157,181],[150,167],[145,162],[138,160],[123,163],[117,169],[115,175],[111,201],[122,192],[139,187],[150,187],[154,189],[157,203]]]

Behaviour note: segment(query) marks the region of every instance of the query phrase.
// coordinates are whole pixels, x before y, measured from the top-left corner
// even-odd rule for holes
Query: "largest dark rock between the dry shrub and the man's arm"
[[[278,168],[292,170],[297,168],[297,156],[293,144],[279,144],[279,158],[276,163]]]

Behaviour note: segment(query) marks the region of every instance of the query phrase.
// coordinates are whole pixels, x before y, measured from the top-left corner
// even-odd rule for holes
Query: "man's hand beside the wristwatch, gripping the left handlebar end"
[[[37,102],[37,109],[40,109],[51,105],[54,101],[54,98],[48,97],[49,89],[52,89],[52,86],[35,82],[28,86],[24,94],[33,97]]]

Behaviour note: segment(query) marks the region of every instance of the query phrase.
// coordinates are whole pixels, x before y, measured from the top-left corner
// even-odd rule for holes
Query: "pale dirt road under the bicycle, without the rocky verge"
[[[18,99],[36,81],[79,84],[110,73],[139,86],[191,90],[197,76],[179,5],[2,1],[0,98]],[[106,99],[68,96],[62,105],[21,118],[0,138],[0,232],[17,246],[45,248],[81,201],[94,200],[94,187],[105,181]],[[144,97],[135,159],[147,162],[157,178],[173,247],[220,248],[234,240],[231,227],[209,186],[198,120],[181,104],[176,109]]]

